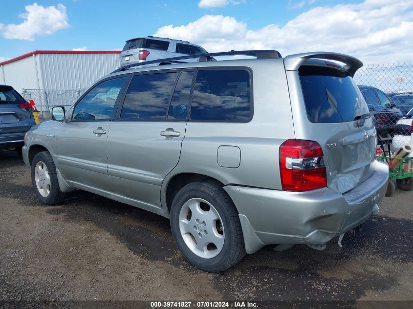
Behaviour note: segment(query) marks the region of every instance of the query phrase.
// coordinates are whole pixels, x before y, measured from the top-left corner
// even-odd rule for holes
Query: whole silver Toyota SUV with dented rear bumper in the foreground
[[[211,272],[268,244],[341,241],[378,210],[388,182],[352,79],[362,62],[219,55],[234,54],[257,59],[124,68],[65,118],[54,107],[23,147],[39,200],[82,189],[170,218],[183,256]]]

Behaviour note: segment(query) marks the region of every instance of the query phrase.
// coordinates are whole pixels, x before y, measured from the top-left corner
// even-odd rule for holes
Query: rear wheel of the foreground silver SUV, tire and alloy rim
[[[179,190],[172,203],[171,229],[182,255],[202,270],[223,271],[245,255],[238,211],[217,181]]]

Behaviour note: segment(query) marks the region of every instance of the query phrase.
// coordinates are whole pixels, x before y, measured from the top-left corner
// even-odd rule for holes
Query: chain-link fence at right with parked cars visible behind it
[[[412,141],[413,62],[366,65],[354,81],[369,105],[385,156]]]

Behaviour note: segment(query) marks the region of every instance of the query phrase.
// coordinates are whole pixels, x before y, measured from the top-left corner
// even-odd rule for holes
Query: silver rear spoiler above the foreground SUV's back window
[[[345,63],[344,69],[350,74],[351,77],[354,76],[356,71],[363,66],[363,62],[357,58],[330,52],[312,52],[290,55],[284,58],[284,66],[286,71],[296,71],[300,66],[308,59],[325,59],[325,60],[335,60]]]

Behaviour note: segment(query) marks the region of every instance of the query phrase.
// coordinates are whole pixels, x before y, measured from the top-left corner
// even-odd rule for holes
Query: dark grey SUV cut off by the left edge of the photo
[[[12,86],[0,85],[0,150],[21,151],[24,134],[36,124],[32,111]]]

